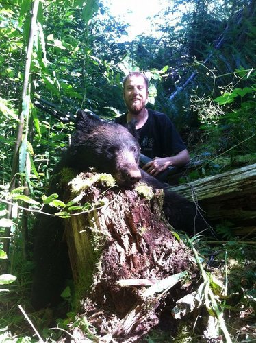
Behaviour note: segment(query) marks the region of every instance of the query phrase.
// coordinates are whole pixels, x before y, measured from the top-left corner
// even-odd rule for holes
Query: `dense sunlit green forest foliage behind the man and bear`
[[[0,1],[0,215],[2,236],[11,235],[12,273],[15,259],[31,260],[27,236],[34,215],[24,222],[22,208],[42,203],[73,131],[68,118],[77,108],[110,118],[125,113],[121,81],[131,70],[149,76],[149,106],[175,121],[192,156],[208,161],[221,155],[232,164],[256,152],[255,1],[166,1],[164,12],[152,19],[161,19],[160,35],[143,34],[132,42],[124,39],[128,23],[114,19],[104,1],[38,1],[25,75],[32,4]],[[179,14],[175,25],[173,13]],[[207,172],[219,169],[214,163]],[[20,206],[16,213],[8,202],[12,210]],[[12,226],[4,220],[6,209]],[[6,259],[3,250],[0,258]]]

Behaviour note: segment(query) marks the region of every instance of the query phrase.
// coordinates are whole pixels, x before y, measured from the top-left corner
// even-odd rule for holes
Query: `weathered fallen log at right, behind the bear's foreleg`
[[[198,202],[211,223],[229,223],[235,235],[255,233],[256,164],[171,189]]]

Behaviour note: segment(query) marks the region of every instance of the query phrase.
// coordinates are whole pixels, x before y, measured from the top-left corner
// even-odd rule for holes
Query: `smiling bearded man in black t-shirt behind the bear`
[[[151,158],[142,169],[159,178],[169,167],[182,167],[190,161],[175,126],[164,113],[146,109],[149,97],[149,80],[139,72],[129,73],[123,80],[123,97],[128,112],[116,118],[116,123],[126,125],[136,120],[141,154]],[[160,179],[160,178],[159,178]]]

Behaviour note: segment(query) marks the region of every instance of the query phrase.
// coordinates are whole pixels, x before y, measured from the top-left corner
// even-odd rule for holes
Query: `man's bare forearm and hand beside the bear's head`
[[[168,167],[183,167],[189,161],[190,155],[188,154],[188,150],[184,149],[172,157],[155,157],[152,161],[146,163],[142,169],[152,176],[157,176],[157,174],[166,170]]]

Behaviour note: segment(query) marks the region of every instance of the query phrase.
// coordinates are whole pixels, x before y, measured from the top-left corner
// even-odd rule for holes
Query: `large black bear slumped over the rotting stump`
[[[196,213],[196,206],[140,169],[139,157],[135,123],[125,128],[78,110],[71,145],[53,171],[49,194],[58,193],[62,200],[65,189],[60,183],[60,173],[65,167],[74,169],[76,174],[93,167],[98,172],[112,174],[116,184],[123,189],[133,189],[140,180],[153,189],[164,189],[164,213],[175,230],[192,234],[195,223],[201,229],[203,221]],[[49,215],[40,215],[34,243],[31,303],[36,310],[55,307],[60,302],[65,280],[72,278],[64,240],[64,222],[53,215],[54,210],[50,206],[47,211]]]

